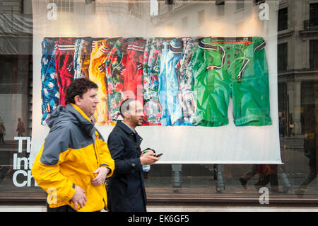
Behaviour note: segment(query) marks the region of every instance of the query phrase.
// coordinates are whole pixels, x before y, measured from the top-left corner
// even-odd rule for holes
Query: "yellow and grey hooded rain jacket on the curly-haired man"
[[[93,171],[105,166],[112,176],[114,160],[105,140],[88,116],[74,104],[58,106],[49,118],[49,134],[37,154],[32,174],[47,193],[50,208],[70,205],[75,186],[83,188],[87,202],[78,211],[98,211],[107,206],[105,184],[93,186]]]

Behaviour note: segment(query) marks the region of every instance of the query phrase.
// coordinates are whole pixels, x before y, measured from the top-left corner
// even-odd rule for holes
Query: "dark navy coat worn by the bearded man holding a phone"
[[[121,120],[108,137],[107,145],[115,163],[107,193],[107,208],[112,212],[146,211],[146,191],[139,159],[142,140]]]

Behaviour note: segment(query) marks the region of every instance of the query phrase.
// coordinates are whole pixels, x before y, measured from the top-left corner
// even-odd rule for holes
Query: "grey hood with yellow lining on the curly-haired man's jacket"
[[[67,104],[65,107],[62,105],[57,106],[53,113],[47,120],[47,125],[49,128],[53,128],[59,123],[71,122],[76,124],[79,128],[85,131],[90,137],[95,134],[95,125],[93,122],[88,120],[87,115],[85,115],[80,108],[73,104]]]

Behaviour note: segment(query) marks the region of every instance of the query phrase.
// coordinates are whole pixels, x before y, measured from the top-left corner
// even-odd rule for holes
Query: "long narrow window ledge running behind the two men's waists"
[[[46,193],[0,193],[0,205],[45,205]],[[215,204],[215,203],[242,203],[257,204],[261,194],[182,194],[182,193],[147,193],[148,205],[165,204]],[[313,204],[318,205],[318,194],[269,194],[270,204]]]

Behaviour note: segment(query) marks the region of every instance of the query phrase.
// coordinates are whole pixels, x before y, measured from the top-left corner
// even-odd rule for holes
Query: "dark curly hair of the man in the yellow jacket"
[[[85,78],[73,80],[66,88],[65,105],[68,103],[75,103],[74,97],[82,97],[88,89],[98,89],[98,85]]]

